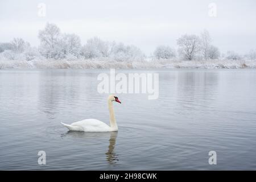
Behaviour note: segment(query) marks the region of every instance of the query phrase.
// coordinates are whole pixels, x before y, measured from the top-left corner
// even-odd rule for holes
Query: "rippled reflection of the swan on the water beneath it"
[[[115,164],[118,161],[118,154],[114,152],[115,148],[115,141],[117,139],[118,131],[111,131],[111,132],[81,132],[81,131],[68,131],[65,134],[62,134],[61,137],[75,137],[84,140],[87,140],[89,143],[93,144],[93,141],[102,140],[104,138],[109,138],[109,146],[108,150],[105,152],[106,160],[109,164]]]

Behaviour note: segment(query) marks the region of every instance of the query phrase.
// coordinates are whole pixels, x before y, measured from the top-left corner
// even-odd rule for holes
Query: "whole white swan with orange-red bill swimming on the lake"
[[[115,115],[113,109],[113,101],[121,102],[118,100],[118,97],[114,95],[110,95],[108,97],[108,105],[109,105],[109,120],[110,126],[102,121],[98,121],[98,119],[84,119],[82,121],[77,121],[72,123],[71,125],[67,125],[62,123],[65,127],[67,127],[71,131],[85,131],[85,132],[104,132],[104,131],[117,131],[117,123],[115,122]]]

